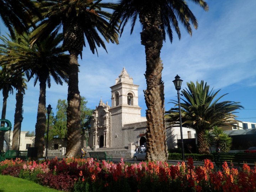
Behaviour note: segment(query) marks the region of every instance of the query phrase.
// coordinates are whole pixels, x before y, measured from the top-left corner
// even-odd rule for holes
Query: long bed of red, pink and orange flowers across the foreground
[[[246,164],[240,171],[223,164],[216,171],[210,160],[193,166],[188,159],[177,165],[166,162],[139,164],[96,162],[93,159],[58,161],[5,160],[0,173],[26,178],[62,191],[256,191],[256,167]]]

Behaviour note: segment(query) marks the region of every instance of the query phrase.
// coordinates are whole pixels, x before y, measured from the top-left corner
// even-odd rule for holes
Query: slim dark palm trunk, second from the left
[[[20,117],[22,115],[22,106],[23,106],[23,94],[22,94],[22,76],[19,77],[20,80],[18,82],[18,91],[16,93],[16,107],[14,114],[14,129],[12,135],[12,150],[18,150],[18,140],[19,133],[21,129]]]

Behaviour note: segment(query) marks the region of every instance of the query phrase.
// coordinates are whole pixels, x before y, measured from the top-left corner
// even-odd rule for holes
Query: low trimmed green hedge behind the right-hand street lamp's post
[[[212,154],[185,153],[184,155],[185,155],[185,160],[187,160],[187,158],[191,157],[191,158],[193,158],[194,161],[204,161],[204,159],[209,159],[211,161],[214,161]],[[169,160],[182,160],[182,154],[181,153],[169,153],[168,159]]]

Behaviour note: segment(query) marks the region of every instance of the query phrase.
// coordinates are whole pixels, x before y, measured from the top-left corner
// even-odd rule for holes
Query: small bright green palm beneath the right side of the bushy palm
[[[223,152],[228,152],[232,146],[232,138],[217,126],[214,126],[212,130],[205,130],[203,140],[208,147],[219,146]]]

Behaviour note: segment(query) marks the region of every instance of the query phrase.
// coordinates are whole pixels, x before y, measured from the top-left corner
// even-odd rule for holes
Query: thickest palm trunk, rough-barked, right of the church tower
[[[140,33],[141,43],[146,53],[146,84],[144,91],[146,101],[146,139],[148,161],[166,161],[168,158],[166,128],[164,119],[164,83],[162,82],[162,30],[160,29],[160,8],[146,7],[139,14],[143,31]]]

